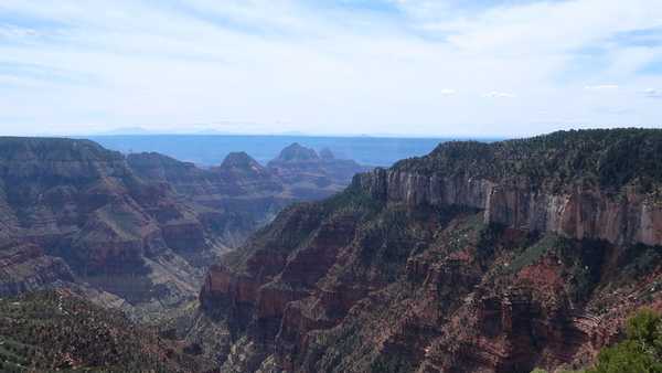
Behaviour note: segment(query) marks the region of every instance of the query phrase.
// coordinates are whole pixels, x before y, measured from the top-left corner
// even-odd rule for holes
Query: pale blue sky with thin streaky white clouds
[[[0,134],[662,128],[660,0],[0,0]]]

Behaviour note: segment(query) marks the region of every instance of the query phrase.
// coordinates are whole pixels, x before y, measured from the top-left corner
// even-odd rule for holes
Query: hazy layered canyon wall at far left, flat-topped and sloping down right
[[[2,295],[67,285],[177,305],[223,249],[168,184],[86,140],[1,138],[0,209]]]

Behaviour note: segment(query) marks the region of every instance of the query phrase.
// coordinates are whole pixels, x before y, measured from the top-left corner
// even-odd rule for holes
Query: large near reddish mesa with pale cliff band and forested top
[[[659,159],[661,130],[447,143],[286,209],[207,273],[221,370],[585,366],[662,309]]]

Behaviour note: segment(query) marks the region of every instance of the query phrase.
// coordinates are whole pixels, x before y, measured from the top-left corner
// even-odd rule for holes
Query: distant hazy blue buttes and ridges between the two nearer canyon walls
[[[322,161],[298,143],[285,148],[268,167],[245,152],[229,153],[209,170],[159,153],[130,154],[127,161],[143,180],[171,185],[228,246],[238,246],[293,201],[334,194],[365,170],[349,160]]]

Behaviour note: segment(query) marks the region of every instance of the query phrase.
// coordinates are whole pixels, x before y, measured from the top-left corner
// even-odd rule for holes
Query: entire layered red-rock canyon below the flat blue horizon
[[[374,170],[298,143],[200,168],[1,138],[2,335],[40,364],[107,366],[87,342],[49,354],[44,302],[49,339],[125,369],[584,369],[662,311],[660,159],[645,129],[450,141]]]

